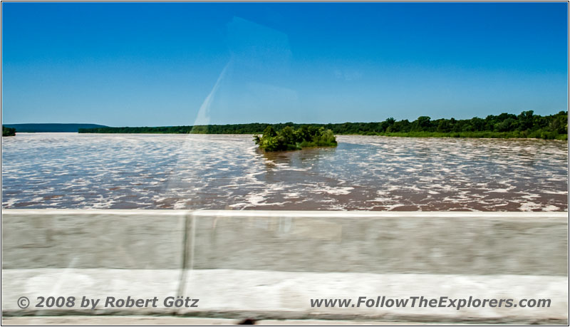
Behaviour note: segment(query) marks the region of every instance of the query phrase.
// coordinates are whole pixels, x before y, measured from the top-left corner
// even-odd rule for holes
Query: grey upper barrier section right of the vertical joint
[[[566,276],[566,213],[190,214],[194,269]]]

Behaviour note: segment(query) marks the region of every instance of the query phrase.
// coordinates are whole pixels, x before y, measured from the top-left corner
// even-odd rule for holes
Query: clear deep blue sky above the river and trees
[[[566,3],[3,3],[3,123],[566,110]]]

